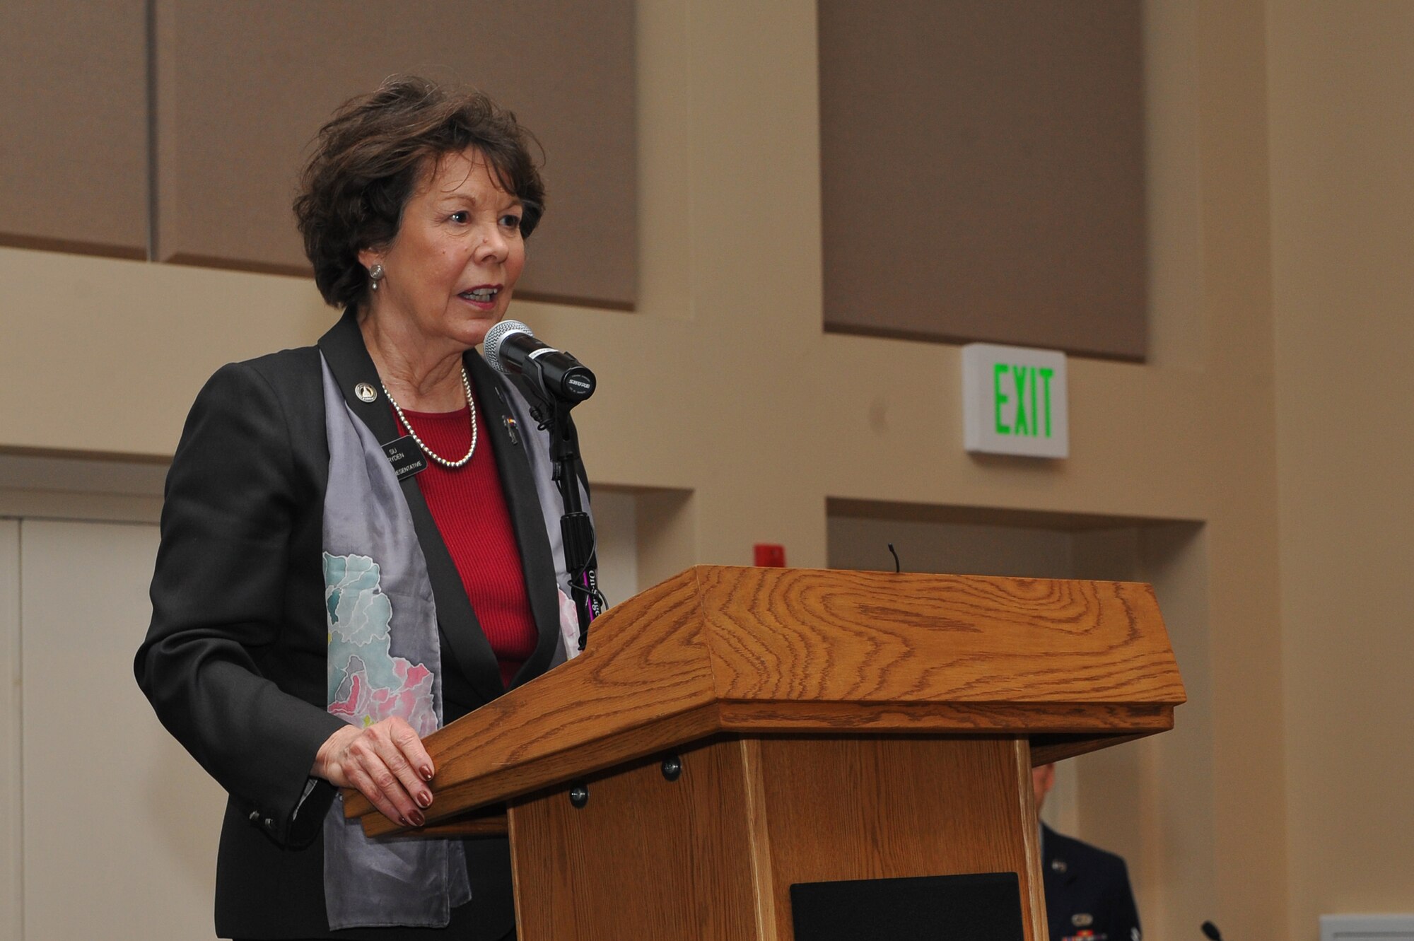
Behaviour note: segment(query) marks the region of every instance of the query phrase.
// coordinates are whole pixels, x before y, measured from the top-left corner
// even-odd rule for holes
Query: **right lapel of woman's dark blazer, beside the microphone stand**
[[[477,403],[484,415],[482,432],[492,438],[496,455],[496,470],[501,473],[501,489],[510,509],[510,524],[516,531],[516,545],[520,548],[520,567],[525,572],[526,595],[530,598],[530,613],[534,616],[534,653],[522,664],[510,685],[518,687],[544,673],[554,656],[560,639],[560,598],[556,589],[554,555],[550,551],[550,537],[546,534],[546,517],[536,493],[530,459],[526,458],[529,428],[512,439],[509,430],[510,410],[508,394],[501,377],[486,365],[477,350],[464,357],[467,374],[477,390]]]

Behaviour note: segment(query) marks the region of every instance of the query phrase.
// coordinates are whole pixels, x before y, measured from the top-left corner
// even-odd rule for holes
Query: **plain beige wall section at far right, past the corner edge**
[[[1414,4],[1267,25],[1292,938],[1414,911]]]

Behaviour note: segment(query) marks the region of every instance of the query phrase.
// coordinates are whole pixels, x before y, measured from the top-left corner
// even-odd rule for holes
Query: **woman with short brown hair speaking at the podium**
[[[366,839],[337,788],[420,827],[421,738],[573,647],[549,441],[474,349],[544,205],[527,143],[416,78],[341,107],[294,209],[344,316],[191,408],[134,671],[230,795],[221,937],[515,937],[505,838]]]

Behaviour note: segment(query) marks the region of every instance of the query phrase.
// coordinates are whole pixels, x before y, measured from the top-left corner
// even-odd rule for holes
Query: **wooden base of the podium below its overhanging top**
[[[1015,872],[1044,941],[1019,736],[715,739],[509,811],[522,941],[792,941],[790,884]]]

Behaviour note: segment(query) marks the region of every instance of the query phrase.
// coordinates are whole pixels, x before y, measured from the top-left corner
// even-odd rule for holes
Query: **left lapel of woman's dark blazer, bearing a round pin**
[[[359,383],[380,389],[378,367],[373,366],[373,359],[363,346],[363,335],[358,328],[354,308],[345,311],[339,322],[320,338],[320,350],[329,363],[329,372],[334,373],[339,391],[344,393],[344,401],[368,425],[373,437],[379,442],[399,438],[392,407],[385,401],[382,393],[370,403],[354,393]],[[505,473],[502,473],[503,478]],[[402,487],[407,509],[413,516],[417,543],[423,547],[423,557],[427,560],[427,578],[433,586],[437,626],[441,629],[444,646],[472,688],[486,702],[491,702],[505,692],[496,654],[491,650],[491,643],[481,630],[481,622],[477,620],[477,612],[471,608],[467,589],[461,584],[461,575],[451,561],[451,552],[447,551],[447,543],[443,541],[437,523],[423,499],[423,492],[417,487],[416,475],[404,478]]]

